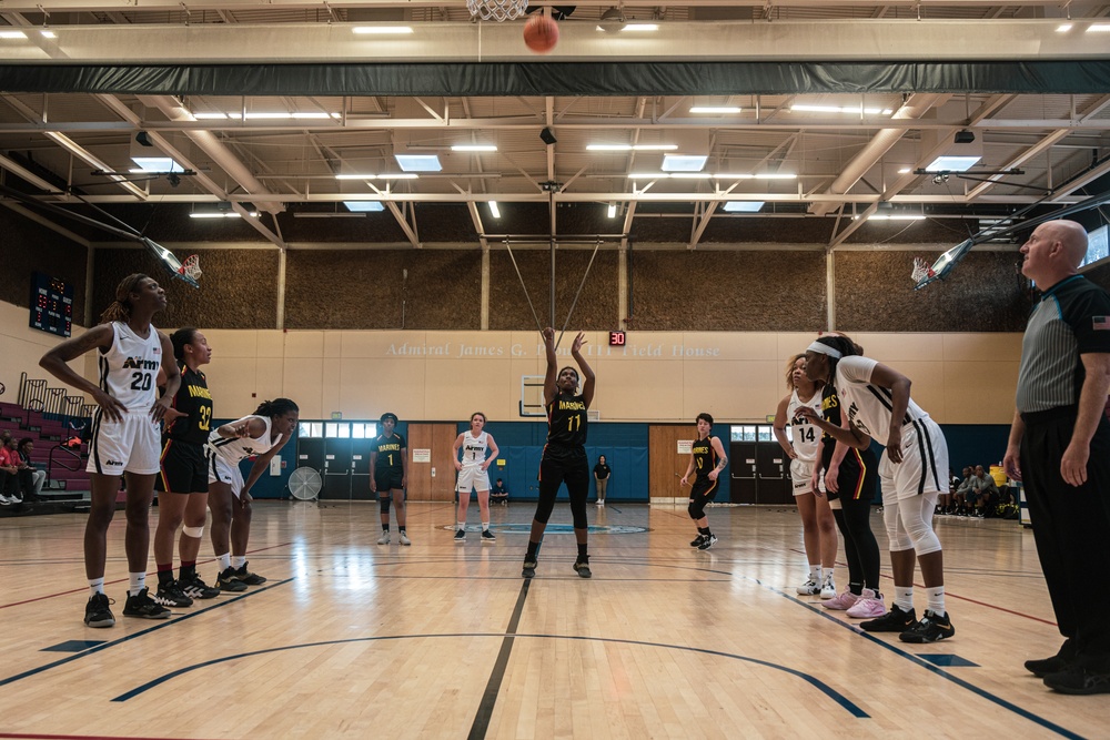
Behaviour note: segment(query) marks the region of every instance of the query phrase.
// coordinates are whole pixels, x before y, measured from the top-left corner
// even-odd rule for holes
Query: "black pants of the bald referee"
[[[1022,420],[1021,476],[1060,632],[1082,665],[1110,670],[1110,422],[1101,419],[1087,483],[1076,488],[1060,475],[1076,409],[1022,415]]]

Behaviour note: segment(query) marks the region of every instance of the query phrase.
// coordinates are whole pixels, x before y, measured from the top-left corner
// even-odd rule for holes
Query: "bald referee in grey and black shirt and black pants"
[[[1079,274],[1087,232],[1050,221],[1021,247],[1041,290],[1021,343],[1002,462],[1023,480],[1064,642],[1026,668],[1060,693],[1110,693],[1110,294]]]

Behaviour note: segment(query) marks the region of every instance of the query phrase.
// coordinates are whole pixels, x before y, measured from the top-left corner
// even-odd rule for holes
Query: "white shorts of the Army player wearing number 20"
[[[161,443],[158,422],[151,418],[149,410],[127,412],[120,422],[97,410],[89,443],[89,464],[84,469],[103,475],[153,475],[159,472]]]

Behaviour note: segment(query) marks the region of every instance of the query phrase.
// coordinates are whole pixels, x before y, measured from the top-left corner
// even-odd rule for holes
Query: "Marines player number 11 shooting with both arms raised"
[[[589,494],[589,462],[586,458],[586,410],[594,399],[594,371],[582,356],[582,345],[586,335],[578,332],[571,345],[571,356],[582,368],[585,381],[582,394],[578,389],[578,371],[564,367],[556,376],[555,330],[543,332],[547,354],[547,375],[544,377],[544,404],[547,407],[547,444],[539,460],[539,503],[532,519],[528,536],[528,551],[524,556],[525,578],[536,575],[539,545],[544,539],[547,520],[555,509],[555,497],[559,486],[566,481],[566,493],[571,497],[571,516],[574,519],[574,539],[578,545],[578,557],[574,570],[583,578],[589,578],[589,555],[586,549],[586,496]]]

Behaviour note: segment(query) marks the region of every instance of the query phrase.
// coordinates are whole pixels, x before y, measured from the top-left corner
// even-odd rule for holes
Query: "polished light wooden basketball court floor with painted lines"
[[[411,504],[401,547],[395,529],[374,544],[373,504],[259,501],[250,562],[269,582],[167,621],[122,617],[120,511],[111,629],[81,621],[84,517],[2,520],[0,737],[1110,734],[1103,697],[1054,695],[1021,667],[1061,638],[1015,521],[937,520],[957,633],[910,646],[795,595],[794,509],[712,508],[720,541],[699,553],[685,508],[591,506],[612,528],[591,535],[593,579],[571,569],[573,536],[549,531],[528,582],[534,504],[494,507],[493,545],[476,508],[455,544],[448,504]],[[568,521],[561,503],[553,525]],[[878,510],[872,527],[885,546]]]

